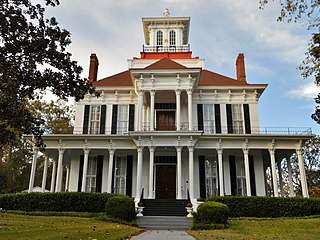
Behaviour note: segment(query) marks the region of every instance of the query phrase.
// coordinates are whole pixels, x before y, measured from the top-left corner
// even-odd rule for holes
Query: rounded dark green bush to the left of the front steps
[[[114,196],[108,199],[106,214],[109,217],[132,221],[136,218],[134,201],[128,196]]]

